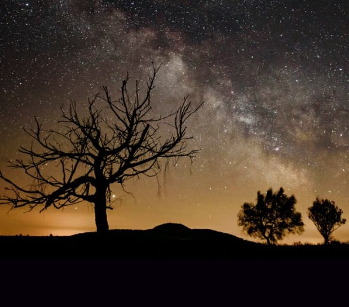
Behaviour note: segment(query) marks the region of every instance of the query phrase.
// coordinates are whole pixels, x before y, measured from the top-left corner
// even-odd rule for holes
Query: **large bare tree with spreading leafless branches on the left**
[[[103,233],[109,229],[107,209],[112,209],[113,183],[123,184],[141,174],[156,176],[161,158],[193,158],[198,150],[187,148],[186,141],[192,137],[186,135],[186,123],[203,102],[190,110],[191,103],[184,97],[175,112],[154,115],[151,94],[160,66],[153,64],[143,95],[139,81],[134,95],[130,95],[127,74],[118,99],[112,100],[105,86],[101,95],[88,99],[87,116],[79,115],[76,102],[70,103],[68,111],[61,108],[62,129],[44,130],[35,118],[36,128],[25,129],[32,145],[19,148],[28,160],[7,160],[10,167],[22,170],[33,185],[24,188],[0,171],[0,178],[10,184],[6,188],[9,193],[0,196],[0,204],[27,206],[29,210],[43,205],[42,211],[87,201],[94,204],[96,229]],[[106,110],[96,106],[97,101],[105,104],[108,116]],[[162,124],[168,125],[167,134]],[[54,175],[48,175],[44,170],[52,163]]]

